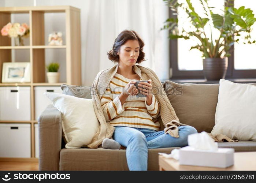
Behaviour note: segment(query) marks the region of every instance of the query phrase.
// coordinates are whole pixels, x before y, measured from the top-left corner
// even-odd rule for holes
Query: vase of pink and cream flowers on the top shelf
[[[7,23],[1,29],[2,36],[15,38],[15,46],[24,46],[23,38],[29,37],[29,26],[26,23]]]

